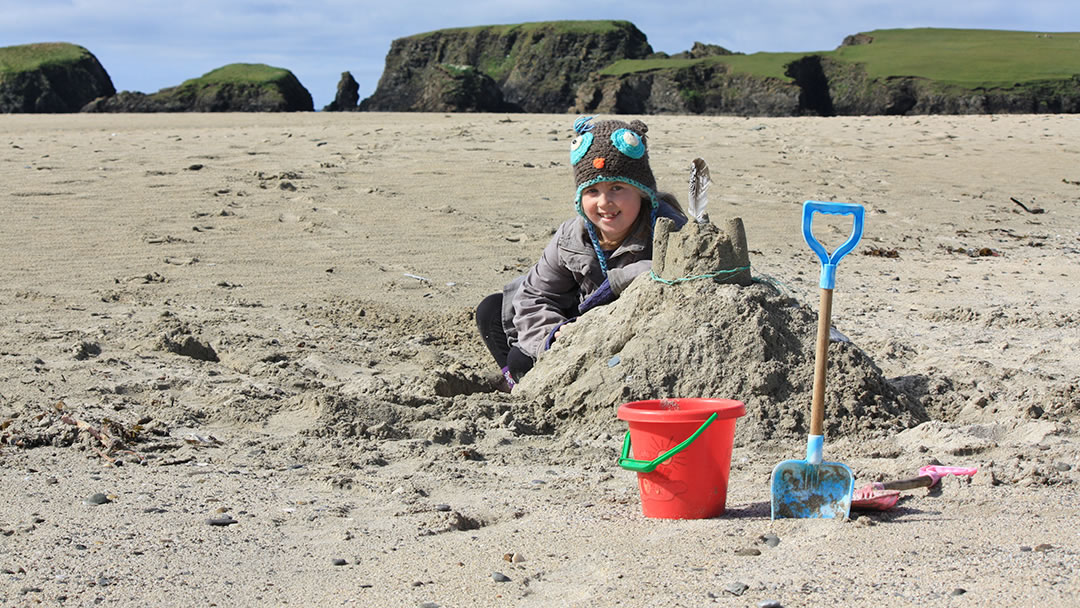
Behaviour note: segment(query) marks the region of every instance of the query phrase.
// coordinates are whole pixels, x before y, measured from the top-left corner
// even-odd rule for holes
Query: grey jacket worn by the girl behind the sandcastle
[[[660,199],[658,215],[681,228],[686,217],[674,197],[661,194]],[[607,279],[617,297],[638,274],[652,268],[649,219],[650,214],[640,214],[631,235],[608,257]],[[578,316],[578,305],[603,283],[604,271],[585,219],[579,215],[564,221],[536,266],[503,287],[502,326],[508,341],[539,359],[552,330]]]

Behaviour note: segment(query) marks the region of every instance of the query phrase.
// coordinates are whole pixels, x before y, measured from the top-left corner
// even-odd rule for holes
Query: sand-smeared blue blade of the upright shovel
[[[839,462],[785,460],[772,470],[772,518],[847,517],[855,477]]]

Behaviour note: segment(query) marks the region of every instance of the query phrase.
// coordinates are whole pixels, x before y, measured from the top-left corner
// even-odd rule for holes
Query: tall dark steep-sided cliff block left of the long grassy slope
[[[364,110],[566,112],[578,86],[617,59],[652,53],[629,22],[445,29],[394,40]]]

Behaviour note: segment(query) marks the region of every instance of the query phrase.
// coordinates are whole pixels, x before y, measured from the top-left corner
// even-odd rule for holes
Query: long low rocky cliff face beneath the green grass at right
[[[594,73],[577,91],[578,113],[891,116],[1080,112],[1080,76],[1012,87],[969,90],[915,77],[875,79],[858,64],[806,55],[787,78],[732,71],[724,64]]]

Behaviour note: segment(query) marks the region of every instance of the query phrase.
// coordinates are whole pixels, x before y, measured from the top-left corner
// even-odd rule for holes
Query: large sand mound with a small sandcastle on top
[[[656,275],[639,278],[617,301],[582,315],[514,395],[536,403],[556,428],[604,425],[629,401],[715,397],[746,404],[739,442],[806,434],[816,312],[767,283],[739,285],[733,272],[667,284],[672,259],[689,271],[685,276],[741,268],[741,222],[729,224],[726,233],[696,224],[671,234],[658,229],[657,239],[667,242],[657,243],[663,255],[656,258]],[[825,404],[832,436],[882,435],[927,419],[917,400],[847,341],[829,347]]]

